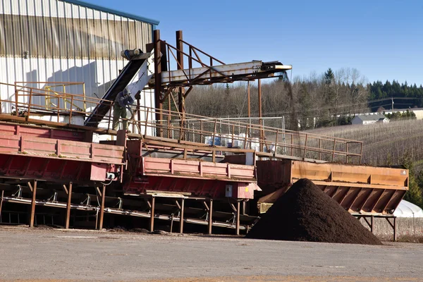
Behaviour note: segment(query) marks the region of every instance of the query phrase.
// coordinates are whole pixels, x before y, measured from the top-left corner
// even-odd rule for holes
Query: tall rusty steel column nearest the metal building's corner
[[[159,123],[157,135],[163,136],[163,100],[161,99],[161,43],[160,30],[154,30],[154,102],[156,110],[156,122]],[[158,111],[158,112],[157,112]]]

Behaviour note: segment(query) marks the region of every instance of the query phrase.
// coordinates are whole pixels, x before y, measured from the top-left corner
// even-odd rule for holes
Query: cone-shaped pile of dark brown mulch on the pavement
[[[360,221],[306,178],[294,183],[246,237],[382,245]]]

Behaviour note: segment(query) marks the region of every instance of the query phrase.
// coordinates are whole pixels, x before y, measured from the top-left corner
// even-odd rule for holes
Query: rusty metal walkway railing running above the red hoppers
[[[0,85],[4,85],[0,83]],[[40,112],[57,116],[56,123],[71,125],[72,116],[88,116],[90,111],[81,111],[79,107],[70,109],[61,107],[60,99],[69,99],[71,105],[78,102],[87,103],[87,109],[94,109],[100,102],[109,106],[109,113],[104,116],[99,128],[106,129],[109,134],[116,134],[112,129],[114,102],[94,97],[82,97],[78,94],[56,92],[33,87],[19,87],[14,99],[0,100],[1,106],[14,106],[16,116],[25,117],[26,121],[32,113]],[[56,99],[55,106],[34,103],[34,97]],[[63,104],[63,103],[62,103]],[[157,121],[157,113],[163,120]],[[1,113],[0,113],[1,114]],[[131,106],[130,118],[127,118],[132,134],[142,139],[160,137],[161,140],[172,139],[172,147],[177,144],[209,148],[224,148],[243,150],[254,149],[257,156],[268,158],[295,157],[300,159],[315,159],[321,161],[339,161],[360,164],[362,159],[362,142],[337,137],[328,137],[312,133],[302,133],[293,130],[263,126],[241,121],[228,121],[219,118],[207,118],[192,114],[180,114],[177,111],[159,110],[145,106]],[[65,116],[65,117],[63,117]],[[120,118],[122,121],[122,118]],[[156,138],[157,139],[157,138]],[[177,140],[174,141],[174,140]],[[169,142],[171,140],[168,140]],[[216,149],[213,149],[214,151]]]

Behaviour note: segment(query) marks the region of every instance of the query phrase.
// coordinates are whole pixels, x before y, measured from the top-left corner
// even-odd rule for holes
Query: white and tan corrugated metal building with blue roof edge
[[[159,24],[75,0],[0,3],[0,82],[37,88],[49,82],[85,82],[90,97],[102,97],[125,66],[121,51],[145,50]],[[82,93],[82,85],[66,92]],[[14,99],[13,87],[0,85],[0,95]],[[154,106],[151,92],[143,99],[145,106]]]

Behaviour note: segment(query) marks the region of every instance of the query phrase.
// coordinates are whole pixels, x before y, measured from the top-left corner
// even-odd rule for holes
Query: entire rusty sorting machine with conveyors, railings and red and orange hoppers
[[[180,87],[190,87],[190,92],[193,85],[268,78],[290,66],[278,61],[213,66],[190,56],[190,68],[183,69],[179,62],[177,71],[168,71],[162,57],[166,51],[157,56],[157,48],[166,43],[156,43],[156,49],[128,58],[104,97],[88,101],[94,104],[92,110],[74,106],[81,99],[78,95],[32,87],[16,88],[14,99],[0,101],[0,110],[11,105],[16,109],[12,114],[0,111],[0,223],[148,226],[154,231],[159,221],[180,233],[189,223],[187,228],[204,226],[208,233],[212,228],[232,228],[239,234],[300,178],[312,180],[357,217],[392,218],[408,189],[408,171],[360,165],[362,142],[162,108],[164,96]],[[189,46],[190,53],[200,51]],[[164,65],[159,76],[154,71],[158,58]],[[193,68],[192,61],[199,60],[200,67]],[[136,73],[140,89],[154,87],[160,92],[159,107],[137,104],[130,121],[133,133],[111,130],[114,99]],[[71,101],[71,106],[63,109],[58,102],[56,108],[47,108],[34,104],[34,96]],[[34,118],[35,113],[57,118]],[[73,123],[81,116],[82,124]],[[181,118],[178,125],[171,123],[176,118]],[[200,128],[190,128],[184,118],[198,121]],[[204,129],[207,123],[211,130]],[[228,133],[218,132],[219,125]],[[97,134],[111,138],[93,142]],[[212,144],[204,144],[207,137]],[[216,137],[231,140],[231,146],[215,145]],[[252,149],[256,143],[258,150]]]

